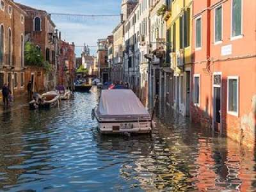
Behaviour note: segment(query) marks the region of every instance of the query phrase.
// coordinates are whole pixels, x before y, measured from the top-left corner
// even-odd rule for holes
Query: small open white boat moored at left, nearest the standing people
[[[52,108],[60,104],[60,94],[58,92],[52,91],[47,92],[42,95],[38,94],[38,99],[33,99],[29,102],[29,107],[31,109],[36,108]]]

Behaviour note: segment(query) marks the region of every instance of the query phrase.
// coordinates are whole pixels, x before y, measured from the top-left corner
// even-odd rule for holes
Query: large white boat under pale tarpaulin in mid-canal
[[[92,111],[102,134],[150,133],[153,121],[132,90],[102,90]]]

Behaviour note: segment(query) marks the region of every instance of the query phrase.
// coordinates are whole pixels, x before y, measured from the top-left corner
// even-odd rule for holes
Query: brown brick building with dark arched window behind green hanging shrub
[[[51,90],[56,86],[56,52],[58,52],[56,26],[51,20],[51,15],[44,10],[36,10],[23,4],[18,5],[26,12],[26,42],[29,41],[35,44],[42,51],[44,60],[48,61],[54,69],[52,72],[44,72],[42,68],[28,67],[26,81],[31,80],[33,82],[33,90],[36,92]]]

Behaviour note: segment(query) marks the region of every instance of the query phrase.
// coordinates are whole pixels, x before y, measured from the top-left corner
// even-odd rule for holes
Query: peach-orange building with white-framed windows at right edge
[[[256,1],[193,2],[191,118],[255,147]]]

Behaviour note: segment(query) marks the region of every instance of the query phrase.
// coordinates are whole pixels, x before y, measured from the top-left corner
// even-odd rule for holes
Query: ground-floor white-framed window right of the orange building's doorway
[[[228,113],[238,115],[238,77],[228,77]]]

